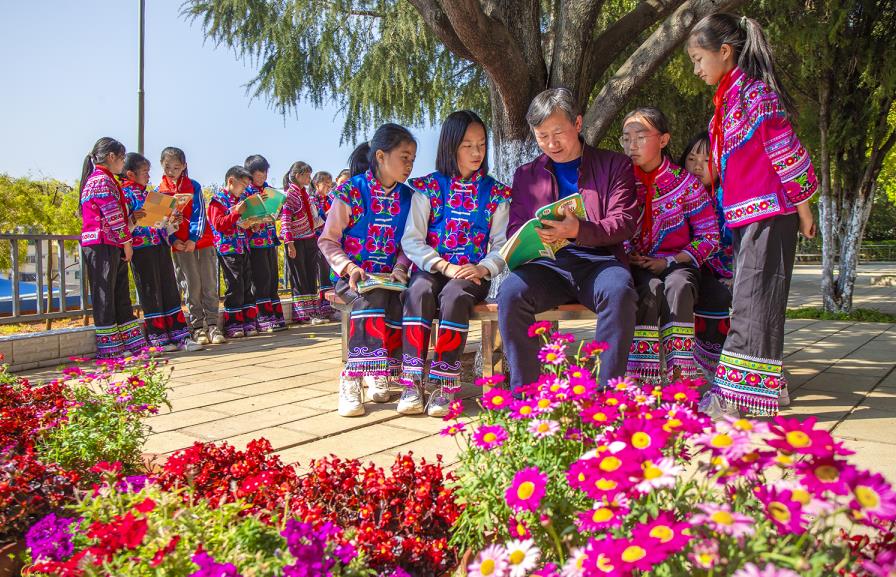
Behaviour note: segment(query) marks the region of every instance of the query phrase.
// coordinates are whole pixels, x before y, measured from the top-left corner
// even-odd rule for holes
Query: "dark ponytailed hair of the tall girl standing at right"
[[[775,72],[771,45],[758,22],[746,16],[738,17],[725,12],[710,14],[694,26],[690,41],[713,52],[718,52],[723,44],[731,46],[734,61],[744,74],[753,80],[761,80],[778,95],[787,114],[796,116],[793,98],[784,89]]]

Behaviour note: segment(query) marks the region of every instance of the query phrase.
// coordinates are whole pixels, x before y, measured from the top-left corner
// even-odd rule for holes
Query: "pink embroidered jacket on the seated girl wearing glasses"
[[[703,184],[685,169],[663,158],[656,169],[652,195],[652,218],[649,230],[639,232],[629,244],[630,252],[644,256],[675,256],[685,251],[699,267],[719,248],[719,224],[715,206]],[[641,222],[647,206],[647,187],[635,179]]]

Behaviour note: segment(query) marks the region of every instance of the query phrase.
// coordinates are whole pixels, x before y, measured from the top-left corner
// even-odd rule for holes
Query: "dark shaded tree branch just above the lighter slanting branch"
[[[604,31],[595,33],[588,43],[582,62],[579,102],[587,104],[594,85],[638,34],[671,14],[683,2],[684,0],[643,0]]]

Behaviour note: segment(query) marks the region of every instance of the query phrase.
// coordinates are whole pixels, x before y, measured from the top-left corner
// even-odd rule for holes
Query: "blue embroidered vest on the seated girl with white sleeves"
[[[510,198],[510,188],[481,172],[470,180],[433,172],[411,186],[429,196],[426,244],[451,264],[478,264],[488,253],[492,217]]]

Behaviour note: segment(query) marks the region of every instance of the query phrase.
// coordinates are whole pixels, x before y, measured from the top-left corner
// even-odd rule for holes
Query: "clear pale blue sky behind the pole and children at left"
[[[272,184],[296,160],[337,172],[354,143],[340,146],[335,106],[302,104],[282,116],[245,85],[255,66],[206,42],[182,18],[182,0],[146,2],[146,156],[158,182],[159,152],[178,146],[203,184],[250,154],[271,163]],[[137,1],[4,2],[0,173],[73,181],[100,136],[137,148]],[[372,133],[372,127],[369,133]],[[411,127],[415,174],[435,165],[438,131]],[[278,185],[278,184],[275,184]]]

